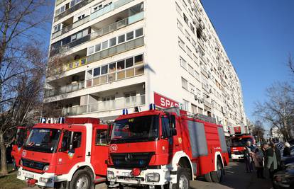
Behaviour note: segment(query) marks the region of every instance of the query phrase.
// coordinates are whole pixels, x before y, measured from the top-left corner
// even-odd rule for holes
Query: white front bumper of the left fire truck
[[[17,178],[21,181],[28,181],[29,179],[34,179],[37,181],[36,185],[44,187],[54,187],[55,174],[54,173],[33,173],[31,171],[23,170],[22,167],[18,168]],[[47,182],[45,182],[47,180]]]

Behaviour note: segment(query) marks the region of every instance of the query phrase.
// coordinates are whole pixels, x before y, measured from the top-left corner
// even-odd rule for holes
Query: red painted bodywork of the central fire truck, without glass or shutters
[[[151,156],[151,160],[148,163],[148,166],[164,166],[171,163],[173,156],[178,151],[184,151],[192,161],[192,164],[197,164],[197,176],[203,175],[205,173],[209,173],[215,170],[215,152],[219,151],[222,155],[222,159],[224,161],[224,166],[227,166],[229,163],[229,155],[226,149],[221,148],[221,144],[219,141],[218,127],[222,128],[222,125],[216,125],[211,122],[205,122],[202,120],[195,120],[193,118],[188,118],[187,113],[183,110],[180,110],[180,115],[177,113],[165,113],[163,110],[148,110],[141,113],[133,113],[129,115],[121,115],[116,119],[116,122],[119,120],[132,119],[136,117],[142,117],[147,115],[175,115],[175,128],[177,130],[177,134],[172,137],[172,141],[170,139],[162,139],[159,136],[163,135],[163,131],[161,128],[162,122],[161,119],[159,122],[159,136],[157,139],[149,142],[128,142],[128,143],[115,143],[111,138],[111,146],[109,147],[109,167],[116,168],[114,166],[114,159],[111,156],[115,156],[115,154],[124,154],[124,153],[143,153],[143,152],[151,152],[153,155]],[[192,156],[192,149],[190,144],[190,134],[188,130],[187,122],[199,122],[204,125],[205,128],[205,136],[207,142],[207,155],[204,156]],[[138,125],[140,127],[140,125]],[[115,126],[114,126],[115,128]],[[222,152],[226,151],[226,152]],[[143,168],[144,169],[144,168]]]

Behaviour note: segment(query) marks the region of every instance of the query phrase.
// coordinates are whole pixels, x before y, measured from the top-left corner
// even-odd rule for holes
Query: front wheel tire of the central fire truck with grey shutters
[[[177,171],[177,183],[173,184],[173,189],[189,189],[190,188],[190,176],[187,168],[178,168]]]

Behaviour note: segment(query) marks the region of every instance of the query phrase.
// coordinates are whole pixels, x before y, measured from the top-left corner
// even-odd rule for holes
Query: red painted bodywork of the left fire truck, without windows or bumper
[[[86,124],[87,123],[87,124]],[[92,125],[92,141],[90,149],[87,149],[87,140],[90,138],[87,136],[87,125]],[[60,137],[55,151],[48,153],[43,151],[34,151],[29,149],[31,144],[24,146],[21,159],[23,161],[23,169],[31,171],[33,173],[54,173],[55,176],[66,175],[70,170],[78,163],[85,162],[87,156],[90,157],[90,164],[94,169],[95,178],[105,178],[107,175],[107,158],[108,158],[108,144],[97,144],[97,130],[101,130],[109,133],[109,125],[99,125],[99,119],[97,118],[65,118],[65,124],[51,124],[51,123],[39,123],[32,128],[34,129],[50,129],[60,130]],[[80,132],[79,147],[75,148],[72,154],[70,150],[61,151],[62,139],[65,137],[65,131]],[[108,135],[109,137],[109,135]],[[30,136],[28,137],[28,141]],[[48,170],[44,171],[38,168],[26,166],[24,161],[29,162],[41,162],[49,166]],[[30,163],[28,163],[30,164]],[[77,166],[78,168],[78,166]],[[102,181],[103,179],[100,179]],[[105,181],[105,179],[104,179]],[[37,183],[38,184],[38,183]]]

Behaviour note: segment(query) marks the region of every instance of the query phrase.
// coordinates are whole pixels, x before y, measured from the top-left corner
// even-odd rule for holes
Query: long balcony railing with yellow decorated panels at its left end
[[[111,47],[107,50],[96,52],[93,55],[89,55],[88,57],[76,60],[75,62],[70,62],[69,64],[66,64],[65,67],[62,67],[61,69],[54,68],[53,69],[54,71],[49,71],[47,76],[53,76],[55,74],[60,74],[63,71],[67,71],[77,67],[82,67],[86,64],[99,61],[100,59],[111,57],[119,53],[126,52],[128,50],[133,50],[137,47],[142,47],[143,45],[144,45],[144,37],[136,38],[134,40],[125,42],[121,45],[116,45],[114,47]]]

